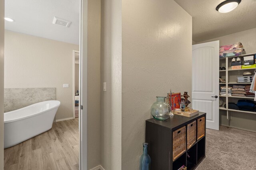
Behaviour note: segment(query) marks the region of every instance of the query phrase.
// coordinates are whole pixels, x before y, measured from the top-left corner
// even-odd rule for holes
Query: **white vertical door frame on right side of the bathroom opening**
[[[87,170],[87,14],[88,0],[80,0],[80,31],[79,31],[79,170]]]

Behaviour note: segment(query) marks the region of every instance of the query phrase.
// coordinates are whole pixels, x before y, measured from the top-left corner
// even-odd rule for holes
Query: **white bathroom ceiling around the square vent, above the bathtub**
[[[79,0],[6,0],[5,29],[66,43],[79,44]],[[70,27],[52,24],[54,16],[72,21]]]

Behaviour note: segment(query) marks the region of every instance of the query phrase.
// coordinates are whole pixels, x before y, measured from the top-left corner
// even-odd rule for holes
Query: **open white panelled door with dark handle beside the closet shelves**
[[[192,108],[206,112],[206,128],[219,130],[219,41],[192,45]]]

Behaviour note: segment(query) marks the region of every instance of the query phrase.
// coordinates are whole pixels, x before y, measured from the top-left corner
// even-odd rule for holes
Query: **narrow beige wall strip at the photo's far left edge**
[[[0,170],[4,169],[4,0],[0,0]]]

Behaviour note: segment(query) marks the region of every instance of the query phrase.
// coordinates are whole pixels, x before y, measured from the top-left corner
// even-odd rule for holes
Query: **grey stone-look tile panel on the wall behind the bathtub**
[[[56,100],[56,88],[5,88],[4,112],[46,100]]]

